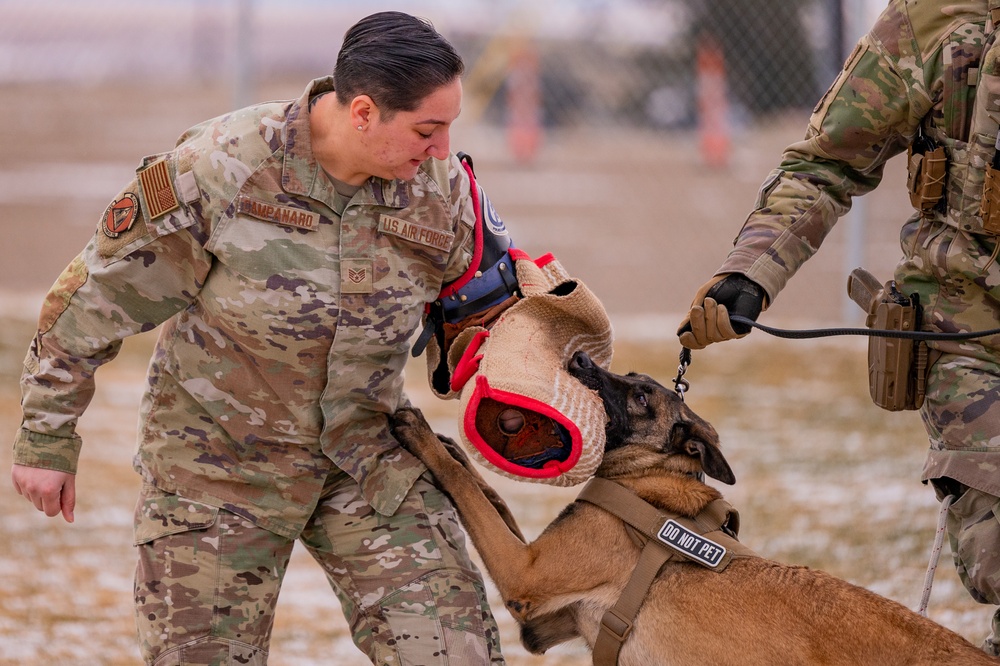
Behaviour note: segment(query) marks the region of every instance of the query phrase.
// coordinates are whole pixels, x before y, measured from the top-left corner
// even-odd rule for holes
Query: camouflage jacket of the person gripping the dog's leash
[[[998,72],[980,61],[987,38],[996,38],[988,16],[997,4],[891,0],[817,104],[805,139],[785,150],[765,180],[718,272],[745,274],[773,301],[851,197],[874,189],[886,161],[906,151],[921,128],[948,159],[946,201],[932,214],[980,231],[983,174],[1000,118]],[[977,85],[981,110],[974,108]]]

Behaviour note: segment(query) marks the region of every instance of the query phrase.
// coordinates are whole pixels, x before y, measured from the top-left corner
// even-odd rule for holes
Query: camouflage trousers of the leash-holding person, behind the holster
[[[937,223],[903,228],[896,270],[923,305],[925,330],[1000,328],[995,239]],[[930,440],[922,478],[938,498],[953,494],[948,535],[959,578],[972,597],[1000,605],[1000,336],[932,342],[934,361],[920,414]],[[987,651],[1000,644],[1000,611]]]

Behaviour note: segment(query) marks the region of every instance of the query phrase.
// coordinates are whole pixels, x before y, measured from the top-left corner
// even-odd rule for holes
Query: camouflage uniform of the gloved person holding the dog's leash
[[[1000,119],[997,5],[891,0],[764,182],[718,272],[745,274],[773,300],[851,198],[874,189],[886,161],[922,133],[944,147],[944,198],[904,225],[895,278],[919,294],[926,330],[997,327],[997,238],[979,214]],[[922,478],[964,492],[949,516],[956,566],[973,597],[1000,604],[1000,338],[932,347],[941,355],[921,410]]]

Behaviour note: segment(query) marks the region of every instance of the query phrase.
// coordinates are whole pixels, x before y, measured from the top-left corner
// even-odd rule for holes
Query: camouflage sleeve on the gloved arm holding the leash
[[[886,161],[906,150],[931,111],[937,73],[927,55],[906,2],[894,0],[816,105],[805,138],[765,180],[718,273],[745,274],[773,302],[852,197],[879,184]]]

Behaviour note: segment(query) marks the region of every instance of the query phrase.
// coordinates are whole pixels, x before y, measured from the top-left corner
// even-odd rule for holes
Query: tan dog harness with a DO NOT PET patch
[[[615,481],[594,477],[576,501],[589,502],[622,520],[629,536],[642,548],[618,602],[601,618],[594,643],[594,666],[618,663],[639,607],[667,562],[694,562],[720,572],[734,557],[758,557],[737,540],[739,513],[721,498],[710,502],[694,518],[686,518],[656,508]]]

